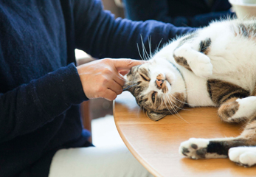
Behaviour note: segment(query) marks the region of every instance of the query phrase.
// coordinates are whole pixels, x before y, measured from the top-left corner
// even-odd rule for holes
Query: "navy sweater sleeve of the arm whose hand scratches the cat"
[[[87,100],[74,64],[0,94],[0,142],[41,128]]]

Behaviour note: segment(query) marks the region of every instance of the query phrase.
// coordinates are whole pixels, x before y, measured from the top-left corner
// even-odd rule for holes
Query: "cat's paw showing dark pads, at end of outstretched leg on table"
[[[186,142],[181,142],[179,153],[191,159],[206,159],[208,139],[190,138]]]

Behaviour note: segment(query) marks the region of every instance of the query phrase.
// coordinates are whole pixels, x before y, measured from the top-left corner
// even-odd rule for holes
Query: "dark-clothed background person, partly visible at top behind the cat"
[[[210,21],[235,17],[228,0],[123,0],[123,3],[128,19],[153,19],[176,27],[205,27]]]

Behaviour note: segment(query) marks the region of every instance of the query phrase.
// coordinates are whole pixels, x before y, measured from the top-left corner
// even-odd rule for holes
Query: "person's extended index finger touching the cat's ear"
[[[113,60],[114,66],[116,67],[117,71],[120,70],[128,70],[131,69],[133,66],[141,65],[146,63],[145,60],[131,60],[131,59],[118,59]]]

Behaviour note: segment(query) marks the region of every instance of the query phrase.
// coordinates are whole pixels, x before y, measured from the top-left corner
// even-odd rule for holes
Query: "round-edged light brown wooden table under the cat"
[[[125,91],[114,102],[114,120],[125,145],[153,176],[256,176],[256,167],[240,167],[229,159],[188,159],[181,142],[195,138],[238,136],[241,125],[221,122],[216,108],[186,108],[158,122],[146,117]]]

